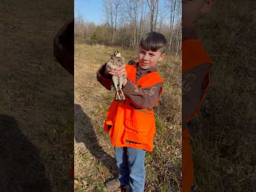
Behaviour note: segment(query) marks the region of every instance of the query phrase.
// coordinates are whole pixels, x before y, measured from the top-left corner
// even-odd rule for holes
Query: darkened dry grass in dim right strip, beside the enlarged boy
[[[214,66],[191,123],[196,191],[256,191],[254,1],[216,1],[195,23]]]

